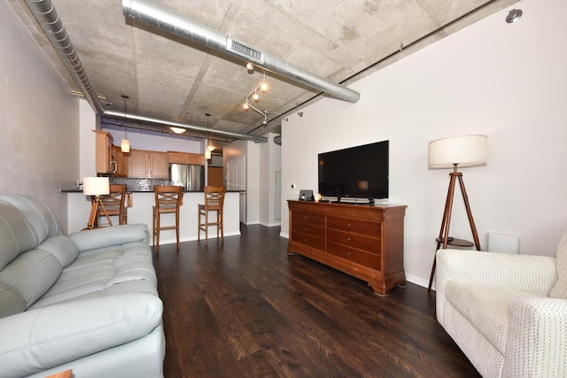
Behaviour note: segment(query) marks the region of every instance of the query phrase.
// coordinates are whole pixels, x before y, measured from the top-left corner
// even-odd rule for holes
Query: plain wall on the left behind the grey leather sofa
[[[79,177],[79,100],[6,2],[0,53],[0,194],[39,197],[66,225],[59,189]]]

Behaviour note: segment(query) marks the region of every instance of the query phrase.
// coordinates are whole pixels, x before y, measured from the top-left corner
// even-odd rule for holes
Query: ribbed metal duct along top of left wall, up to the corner
[[[74,50],[73,42],[67,35],[63,22],[59,19],[50,0],[26,0],[27,7],[43,29],[43,34],[50,41],[51,46],[57,51],[59,58],[71,74],[75,84],[82,90],[85,98],[97,114],[105,111],[98,101],[97,92],[90,83],[89,76],[82,66],[81,59]]]

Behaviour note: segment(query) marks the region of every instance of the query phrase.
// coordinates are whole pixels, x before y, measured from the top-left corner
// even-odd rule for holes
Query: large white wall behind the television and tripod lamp
[[[354,83],[357,104],[324,99],[283,122],[286,199],[317,189],[317,154],[390,140],[390,201],[408,204],[405,269],[427,285],[447,196],[447,170],[428,171],[427,144],[488,135],[488,165],[463,168],[480,241],[518,235],[520,251],[554,255],[567,229],[567,2],[524,0]],[[456,192],[451,235],[470,238]]]

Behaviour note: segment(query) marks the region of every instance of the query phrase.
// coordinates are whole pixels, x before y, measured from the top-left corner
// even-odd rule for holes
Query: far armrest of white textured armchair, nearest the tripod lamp
[[[447,282],[460,279],[506,289],[548,295],[557,281],[555,258],[466,250],[439,250],[436,255],[437,316],[443,319]]]

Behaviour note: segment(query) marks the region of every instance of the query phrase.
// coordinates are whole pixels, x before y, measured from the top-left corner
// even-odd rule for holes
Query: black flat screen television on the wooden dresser
[[[389,141],[319,154],[319,193],[323,197],[388,197]]]

